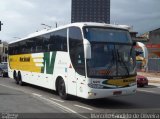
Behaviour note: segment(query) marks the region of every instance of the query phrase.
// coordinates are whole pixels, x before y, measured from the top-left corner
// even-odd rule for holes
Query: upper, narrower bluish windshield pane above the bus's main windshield
[[[122,29],[85,27],[84,34],[85,38],[91,42],[132,43],[129,32]]]

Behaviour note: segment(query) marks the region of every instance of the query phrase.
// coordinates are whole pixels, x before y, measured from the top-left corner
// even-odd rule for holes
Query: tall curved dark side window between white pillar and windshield
[[[76,72],[85,75],[83,39],[81,30],[77,27],[69,28],[69,52]]]

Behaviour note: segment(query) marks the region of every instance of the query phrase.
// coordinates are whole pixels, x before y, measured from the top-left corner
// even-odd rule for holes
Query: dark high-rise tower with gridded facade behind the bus
[[[72,0],[71,22],[110,23],[110,0]]]

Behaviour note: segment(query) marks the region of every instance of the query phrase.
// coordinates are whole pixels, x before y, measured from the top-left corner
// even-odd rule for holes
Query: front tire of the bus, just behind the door
[[[64,100],[68,99],[68,95],[66,93],[65,82],[63,79],[59,79],[59,81],[58,81],[58,94],[62,99],[64,99]]]

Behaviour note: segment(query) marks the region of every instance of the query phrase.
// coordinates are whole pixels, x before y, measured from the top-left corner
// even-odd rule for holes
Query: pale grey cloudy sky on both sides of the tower
[[[44,28],[70,23],[71,0],[0,0],[0,39],[16,40]],[[111,23],[143,33],[160,27],[160,0],[111,0]]]

